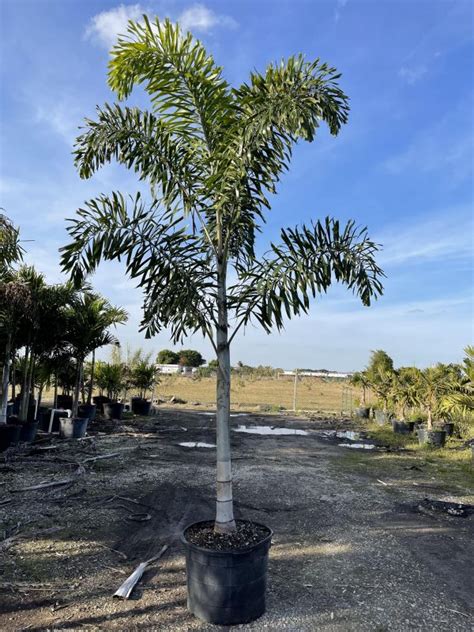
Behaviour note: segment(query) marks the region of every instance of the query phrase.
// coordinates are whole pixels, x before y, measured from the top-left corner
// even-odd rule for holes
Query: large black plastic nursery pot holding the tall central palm
[[[265,612],[268,551],[273,532],[245,550],[217,551],[192,544],[186,539],[188,610],[196,617],[218,625],[238,625],[261,617]],[[259,525],[264,526],[264,525]]]

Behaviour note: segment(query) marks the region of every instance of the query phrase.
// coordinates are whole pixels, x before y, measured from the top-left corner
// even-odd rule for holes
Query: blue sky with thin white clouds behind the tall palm
[[[358,369],[371,349],[397,365],[457,361],[473,341],[473,7],[471,0],[249,0],[117,3],[2,0],[0,206],[21,227],[27,261],[60,280],[65,217],[102,192],[137,190],[112,165],[81,181],[71,151],[84,116],[114,95],[108,49],[127,18],[169,16],[195,33],[238,84],[293,53],[342,73],[348,125],[299,146],[260,246],[282,226],[333,215],[367,225],[384,244],[385,295],[361,307],[334,287],[311,313],[270,336],[249,328],[232,359],[292,368]],[[146,107],[141,95],[131,101]],[[132,347],[169,347],[138,333],[140,292],[115,264],[94,286],[130,313],[118,335]],[[194,337],[185,346],[210,357]]]

